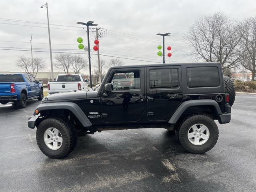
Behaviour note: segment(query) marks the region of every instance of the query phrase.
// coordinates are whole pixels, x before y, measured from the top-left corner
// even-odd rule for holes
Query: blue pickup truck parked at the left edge
[[[27,99],[44,98],[43,85],[30,74],[0,74],[0,103],[25,108]]]

